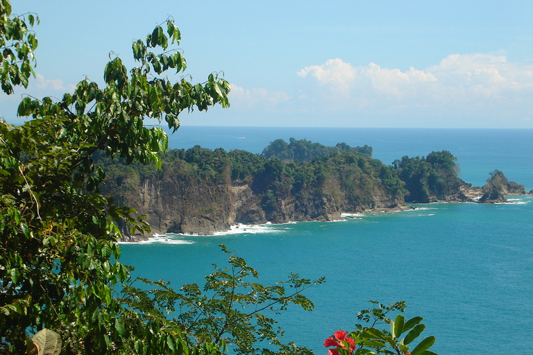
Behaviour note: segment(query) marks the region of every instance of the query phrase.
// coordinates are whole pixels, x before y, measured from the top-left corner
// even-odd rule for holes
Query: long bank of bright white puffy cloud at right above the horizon
[[[427,69],[411,67],[407,71],[375,63],[353,67],[335,58],[297,74],[314,82],[315,88],[322,88],[319,96],[323,101],[346,106],[482,106],[531,102],[533,94],[532,65],[511,63],[505,55],[492,53],[452,54]],[[339,93],[343,94],[341,100]]]

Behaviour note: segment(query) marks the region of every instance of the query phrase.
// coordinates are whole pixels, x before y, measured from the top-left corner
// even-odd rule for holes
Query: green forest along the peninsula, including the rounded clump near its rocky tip
[[[269,147],[280,141],[273,141]],[[323,151],[335,148],[323,147]],[[427,157],[403,157],[393,166],[385,166],[351,148],[301,162],[267,158],[244,150],[226,152],[222,148],[210,150],[195,146],[188,150],[169,150],[161,155],[161,160],[162,170],[154,171],[141,164],[127,166],[108,159],[103,162],[108,178],[117,181],[119,186],[106,187],[105,191],[119,197],[121,180],[135,182],[164,176],[210,184],[242,182],[250,184],[259,196],[262,209],[271,217],[269,220],[276,220],[273,215],[280,211],[287,196],[294,197],[299,205],[314,205],[323,196],[332,196],[340,207],[349,211],[350,207],[353,210],[354,206],[371,205],[376,191],[384,191],[400,201],[405,198],[407,202],[431,202],[457,196],[464,184],[457,177],[457,159],[447,151],[432,152]]]

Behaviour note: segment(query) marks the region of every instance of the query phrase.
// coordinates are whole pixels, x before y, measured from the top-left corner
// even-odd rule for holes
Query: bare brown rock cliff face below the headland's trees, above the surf
[[[117,184],[117,180],[120,184]],[[198,180],[187,175],[160,174],[139,178],[126,174],[108,179],[106,191],[119,205],[146,215],[153,234],[213,234],[237,224],[287,223],[304,220],[339,220],[341,213],[407,209],[402,198],[392,196],[376,181],[369,196],[348,196],[341,183],[330,177],[320,189],[294,193],[276,191],[275,205],[265,206],[253,182],[220,178]],[[126,226],[123,231],[128,234]]]

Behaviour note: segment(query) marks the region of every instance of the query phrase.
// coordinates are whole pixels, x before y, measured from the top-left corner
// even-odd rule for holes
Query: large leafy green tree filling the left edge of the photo
[[[13,17],[9,1],[0,4],[0,73],[3,91],[11,94],[33,73],[37,40],[26,21],[33,25],[37,18]],[[116,297],[129,272],[117,261],[117,223],[125,220],[141,232],[149,227],[99,193],[105,173],[93,160],[100,151],[160,166],[167,136],[144,119],[176,130],[184,110],[228,107],[230,86],[217,73],[201,84],[165,76],[186,68],[180,51],[168,49],[180,39],[167,19],[133,43],[138,67],[128,71],[115,56],[105,67],[105,87],[86,79],[60,101],[27,96],[18,114],[30,121],[0,121],[1,352],[24,352],[26,332],[43,327],[58,331],[67,354],[174,352],[171,345],[180,343],[176,325],[156,316],[153,306],[127,309]]]

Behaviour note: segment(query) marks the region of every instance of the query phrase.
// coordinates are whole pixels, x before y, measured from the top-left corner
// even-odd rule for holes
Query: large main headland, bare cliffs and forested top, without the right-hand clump
[[[212,234],[239,223],[339,220],[346,212],[409,208],[393,169],[353,151],[285,163],[194,147],[171,150],[162,162],[160,171],[102,162],[102,192],[146,215],[153,234]]]

